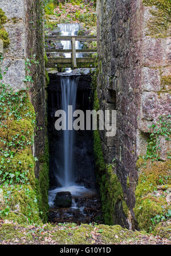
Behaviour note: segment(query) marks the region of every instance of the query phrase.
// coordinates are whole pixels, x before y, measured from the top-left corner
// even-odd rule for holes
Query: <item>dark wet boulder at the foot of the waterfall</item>
[[[71,207],[72,204],[72,196],[69,191],[62,191],[56,193],[54,199],[54,206],[58,208],[68,208]]]

